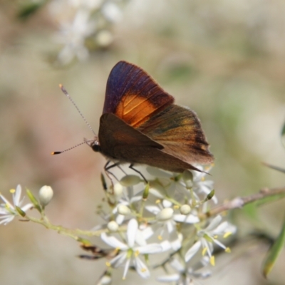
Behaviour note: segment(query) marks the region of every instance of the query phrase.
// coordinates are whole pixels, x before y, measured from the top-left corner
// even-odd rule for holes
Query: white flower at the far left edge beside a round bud
[[[21,208],[21,210],[24,212],[33,207],[33,204],[31,203],[21,207],[21,204],[24,200],[24,197],[21,199],[21,185],[18,185],[16,187],[16,190],[11,190],[10,192],[13,194],[13,204],[11,204],[3,195],[0,195],[0,198],[5,203],[0,205],[0,224],[8,224],[14,219],[14,217],[19,216],[19,212],[16,210],[16,206]]]

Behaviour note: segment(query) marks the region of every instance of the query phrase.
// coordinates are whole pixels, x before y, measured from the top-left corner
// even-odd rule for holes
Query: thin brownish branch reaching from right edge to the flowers
[[[231,201],[224,202],[224,204],[221,204],[215,207],[214,209],[210,209],[206,213],[199,214],[199,218],[207,219],[208,217],[221,214],[222,212],[228,211],[229,209],[240,209],[244,207],[244,205],[246,204],[257,202],[258,200],[261,200],[267,197],[274,197],[276,195],[284,195],[285,197],[285,187],[273,188],[273,189],[264,188],[264,189],[261,189],[258,193],[255,193],[253,195],[249,195],[246,197],[236,197],[232,199]]]

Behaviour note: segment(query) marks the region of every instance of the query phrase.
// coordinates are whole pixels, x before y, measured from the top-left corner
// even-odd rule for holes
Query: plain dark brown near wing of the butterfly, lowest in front
[[[120,162],[139,163],[172,172],[183,172],[196,167],[162,151],[163,146],[131,127],[112,113],[100,118],[99,138],[101,152]]]

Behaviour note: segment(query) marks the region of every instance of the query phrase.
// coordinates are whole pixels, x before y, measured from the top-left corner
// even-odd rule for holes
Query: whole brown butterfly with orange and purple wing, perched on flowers
[[[201,171],[192,164],[214,159],[195,112],[175,105],[142,68],[126,61],[110,72],[98,136],[86,142],[107,157],[107,172],[122,163],[138,173],[137,164]]]

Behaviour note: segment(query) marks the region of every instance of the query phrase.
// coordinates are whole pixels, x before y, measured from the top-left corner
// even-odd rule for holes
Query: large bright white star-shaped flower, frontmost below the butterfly
[[[121,242],[117,237],[101,234],[103,242],[118,250],[119,254],[111,259],[110,266],[115,268],[125,264],[123,279],[127,275],[130,263],[135,266],[136,271],[142,278],[148,278],[150,271],[147,266],[140,260],[140,254],[156,254],[162,252],[160,244],[146,244],[138,232],[138,222],[136,219],[130,219],[125,236],[125,242]]]

